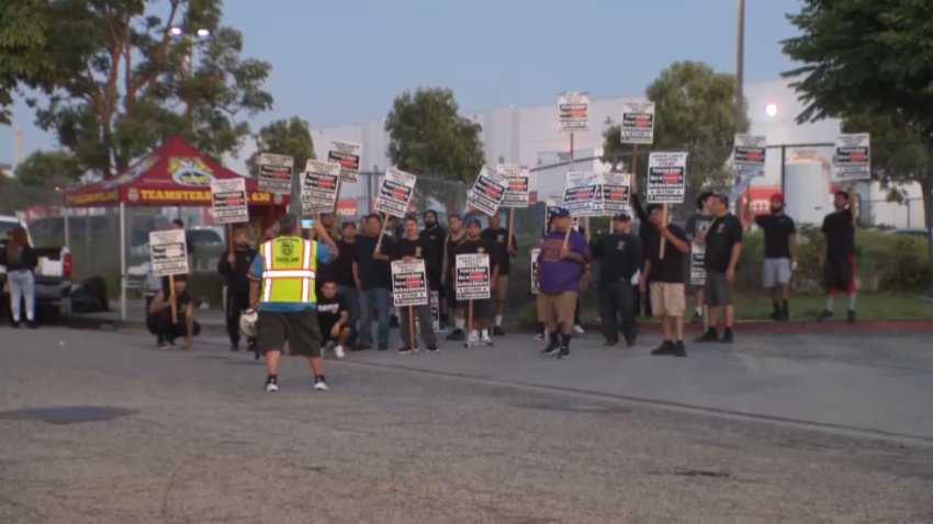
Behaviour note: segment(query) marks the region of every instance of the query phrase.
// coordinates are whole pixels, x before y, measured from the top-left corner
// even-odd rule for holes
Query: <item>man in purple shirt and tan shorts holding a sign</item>
[[[538,320],[550,334],[542,354],[570,356],[580,281],[588,264],[589,243],[583,235],[571,230],[570,212],[563,207],[555,209],[551,230],[541,240],[538,255]]]

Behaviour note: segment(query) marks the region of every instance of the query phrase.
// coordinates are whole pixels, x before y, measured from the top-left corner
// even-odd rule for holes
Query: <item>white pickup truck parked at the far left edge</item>
[[[7,235],[16,226],[25,228],[16,217],[0,215],[0,249],[5,249]],[[34,247],[34,250],[38,258],[38,266],[35,269],[36,314],[42,321],[55,322],[59,315],[68,315],[71,310],[71,252],[61,247]],[[0,291],[0,311],[7,311],[10,289],[7,286],[7,267],[2,265]]]

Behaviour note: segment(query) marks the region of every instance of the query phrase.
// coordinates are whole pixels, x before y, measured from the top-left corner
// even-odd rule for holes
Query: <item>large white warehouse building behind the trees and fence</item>
[[[749,117],[752,123],[750,133],[765,136],[769,146],[832,144],[840,133],[840,122],[836,119],[797,124],[796,116],[802,111],[802,104],[785,80],[746,84],[744,94],[749,102]],[[591,99],[589,132],[575,135],[574,157],[585,159],[602,155],[603,130],[621,118],[622,103],[643,99],[643,95]],[[766,112],[766,107],[771,111]],[[518,163],[535,168],[566,158],[569,140],[559,127],[557,93],[553,104],[498,107],[466,112],[464,116],[482,126],[482,140],[488,164]],[[313,129],[312,135],[318,158],[326,158],[331,140],[356,141],[362,145],[361,171],[383,171],[390,164],[386,156],[389,137],[384,130],[384,118],[357,125]],[[765,176],[752,183],[754,205],[766,204],[769,194],[782,191],[779,151],[780,149],[768,150]],[[803,169],[800,166],[794,167],[795,174],[791,183],[787,184],[787,178],[784,181],[788,203],[795,200],[801,203],[798,206],[793,204],[789,206],[798,215],[795,217],[798,221],[821,221],[823,215],[831,209],[831,197],[828,192],[825,197],[817,196],[816,198],[812,195],[808,197],[806,193],[817,187],[825,190],[832,187],[832,147],[788,147],[786,149],[786,163],[812,163]],[[599,167],[599,162],[588,161],[582,162],[577,169],[593,170]],[[539,198],[560,193],[565,171],[566,168],[554,168],[535,173],[531,189],[537,190]],[[801,184],[799,183],[801,172],[811,173],[824,180],[813,181],[812,186]],[[806,181],[806,178],[802,180]],[[923,206],[920,203],[919,184],[901,190],[908,195],[908,204],[885,202],[887,192],[877,183],[861,184],[858,193],[863,213],[867,213],[875,225],[922,227]],[[345,187],[342,195],[366,196],[363,184],[356,187],[357,194],[353,192]],[[821,192],[822,190],[818,191],[818,193]]]

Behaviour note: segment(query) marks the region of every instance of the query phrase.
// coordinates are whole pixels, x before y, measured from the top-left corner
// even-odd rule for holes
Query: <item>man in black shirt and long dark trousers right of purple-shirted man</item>
[[[629,348],[634,344],[634,293],[632,278],[641,264],[641,241],[631,233],[631,217],[619,214],[612,217],[612,233],[604,235],[592,242],[593,259],[599,260],[598,300],[599,318],[603,321],[604,348],[619,342],[619,317],[621,332]]]

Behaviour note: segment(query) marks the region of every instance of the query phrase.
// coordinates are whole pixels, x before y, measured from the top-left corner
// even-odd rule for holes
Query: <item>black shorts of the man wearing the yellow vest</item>
[[[321,356],[321,328],[314,309],[295,312],[259,311],[257,331],[257,343],[263,353],[282,351],[288,341],[293,355]]]

